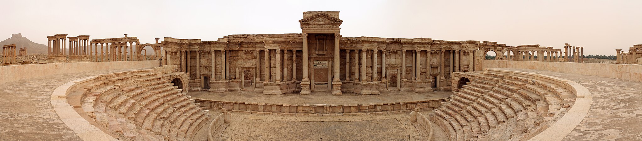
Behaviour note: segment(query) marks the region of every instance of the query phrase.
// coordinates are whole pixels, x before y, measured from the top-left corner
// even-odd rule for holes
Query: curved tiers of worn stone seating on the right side
[[[523,72],[455,72],[470,82],[429,115],[451,140],[522,140],[564,115],[575,94]]]

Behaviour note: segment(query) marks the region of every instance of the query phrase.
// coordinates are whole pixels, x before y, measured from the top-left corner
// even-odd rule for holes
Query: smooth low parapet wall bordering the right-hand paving
[[[482,69],[516,68],[549,70],[571,74],[586,74],[606,78],[642,81],[642,65],[622,65],[614,63],[568,63],[568,62],[527,62],[483,60]]]

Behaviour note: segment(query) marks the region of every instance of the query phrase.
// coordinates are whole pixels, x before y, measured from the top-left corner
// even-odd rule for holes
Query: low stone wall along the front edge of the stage
[[[192,97],[194,99],[194,97]],[[444,98],[446,99],[446,98]],[[432,110],[437,108],[444,99],[429,101],[411,101],[399,103],[372,104],[271,104],[245,103],[239,101],[212,101],[195,99],[196,103],[208,110],[229,109],[232,112],[260,115],[297,115],[297,116],[330,116],[330,115],[370,115],[384,113],[405,113],[415,108]]]

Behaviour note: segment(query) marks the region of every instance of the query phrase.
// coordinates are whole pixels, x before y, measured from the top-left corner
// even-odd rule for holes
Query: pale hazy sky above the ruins
[[[642,44],[642,1],[0,1],[0,38],[46,44],[69,34],[141,44],[154,37],[213,41],[233,34],[301,33],[306,11],[340,11],[343,37],[479,40],[615,54]],[[162,39],[161,39],[162,40]]]

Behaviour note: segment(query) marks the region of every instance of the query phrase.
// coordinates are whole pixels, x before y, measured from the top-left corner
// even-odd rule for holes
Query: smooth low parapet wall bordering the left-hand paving
[[[0,84],[19,79],[96,70],[159,67],[160,61],[41,63],[0,67]]]

